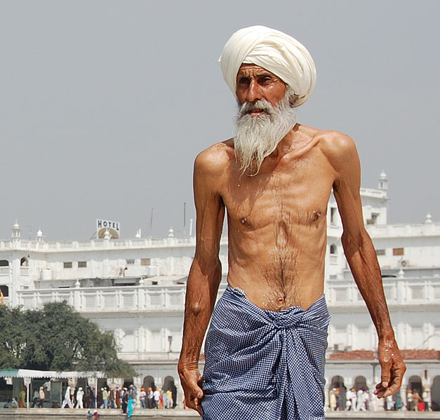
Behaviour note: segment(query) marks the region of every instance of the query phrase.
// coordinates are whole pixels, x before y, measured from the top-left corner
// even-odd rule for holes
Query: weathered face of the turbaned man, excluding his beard
[[[276,107],[285,93],[286,83],[260,66],[243,64],[236,74],[236,97],[240,104],[267,100],[272,107]],[[258,116],[261,112],[255,109],[251,115]]]

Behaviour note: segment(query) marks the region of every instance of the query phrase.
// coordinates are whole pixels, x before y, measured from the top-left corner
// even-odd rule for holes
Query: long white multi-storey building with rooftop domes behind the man
[[[364,220],[382,269],[385,294],[399,346],[408,366],[403,390],[432,392],[440,409],[440,223],[387,224],[387,177],[378,189],[361,189]],[[326,299],[332,321],[328,337],[328,388],[380,381],[377,337],[345,260],[335,198],[328,203]],[[4,302],[25,309],[65,300],[76,311],[113,331],[120,356],[140,373],[136,385],[177,387],[185,283],[194,237],[103,239],[84,243],[0,241],[0,288]],[[225,289],[227,238],[220,260]]]

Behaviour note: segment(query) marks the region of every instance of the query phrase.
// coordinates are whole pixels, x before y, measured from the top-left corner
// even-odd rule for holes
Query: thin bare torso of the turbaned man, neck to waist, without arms
[[[307,309],[324,292],[326,210],[335,170],[317,130],[297,131],[291,150],[265,158],[258,175],[241,175],[229,156],[220,187],[227,209],[228,283],[272,311]],[[225,146],[234,155],[232,141]]]

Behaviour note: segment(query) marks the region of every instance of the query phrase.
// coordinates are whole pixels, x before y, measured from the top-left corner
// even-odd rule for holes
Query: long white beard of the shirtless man
[[[245,102],[241,105],[236,118],[234,137],[235,155],[241,161],[242,173],[247,168],[251,175],[257,175],[262,161],[276,149],[278,143],[296,124],[296,112],[291,107],[293,90],[286,88],[284,98],[272,107],[267,100]],[[258,116],[251,116],[252,109],[265,111]]]

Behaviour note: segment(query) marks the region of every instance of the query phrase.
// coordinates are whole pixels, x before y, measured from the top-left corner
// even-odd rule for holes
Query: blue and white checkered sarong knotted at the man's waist
[[[324,296],[266,311],[228,285],[206,336],[202,418],[324,420],[329,321]]]

